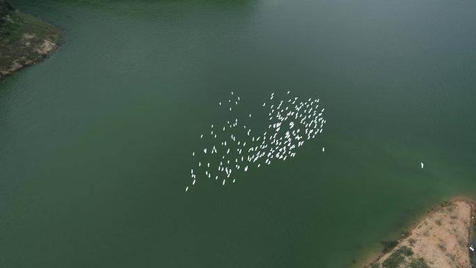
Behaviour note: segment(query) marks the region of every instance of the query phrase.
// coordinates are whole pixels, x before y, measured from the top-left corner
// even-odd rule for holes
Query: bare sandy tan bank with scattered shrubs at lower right
[[[466,198],[443,203],[418,221],[386,253],[365,265],[372,268],[466,268],[475,205]],[[393,246],[393,245],[392,245]]]

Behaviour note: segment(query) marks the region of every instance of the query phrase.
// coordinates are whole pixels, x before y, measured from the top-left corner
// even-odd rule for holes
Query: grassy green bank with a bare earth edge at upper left
[[[44,58],[60,40],[60,31],[0,0],[0,77]]]

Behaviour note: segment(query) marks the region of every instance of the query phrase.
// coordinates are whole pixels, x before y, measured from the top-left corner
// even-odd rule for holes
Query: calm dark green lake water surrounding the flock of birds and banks
[[[13,3],[65,44],[0,81],[0,267],[349,267],[475,196],[474,1]],[[326,128],[184,194],[231,90],[319,97]]]

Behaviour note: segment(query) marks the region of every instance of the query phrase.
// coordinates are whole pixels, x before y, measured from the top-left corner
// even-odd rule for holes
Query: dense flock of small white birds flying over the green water
[[[286,96],[287,99],[289,91]],[[231,92],[230,100],[225,102],[228,104],[226,111],[232,111],[239,101],[239,97]],[[219,102],[219,105],[222,106],[222,103]],[[246,122],[235,118],[227,120],[222,127],[212,125],[209,136],[200,135],[200,139],[205,137],[216,141],[216,144],[191,152],[197,158],[197,166],[191,168],[191,185],[185,187],[185,191],[202,178],[219,180],[225,186],[228,181],[236,182],[236,174],[241,171],[247,172],[273,161],[295,157],[296,148],[302,147],[307,140],[315,139],[326,124],[319,99],[289,97],[288,100],[276,101],[275,93],[272,93],[269,103],[264,102],[262,106],[269,110],[269,126],[263,134],[254,136]],[[203,161],[204,158],[207,160]]]

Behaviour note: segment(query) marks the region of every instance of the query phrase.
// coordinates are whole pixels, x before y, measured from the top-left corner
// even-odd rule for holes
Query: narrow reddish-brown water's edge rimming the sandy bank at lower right
[[[475,204],[475,202],[472,198],[469,198],[467,196],[457,196],[457,197],[454,197],[454,198],[450,199],[449,201],[445,201],[443,203],[439,203],[438,205],[430,207],[429,210],[427,211],[427,213],[418,217],[417,221],[415,221],[415,223],[412,223],[408,227],[408,230],[406,230],[405,234],[402,234],[401,237],[398,237],[398,239],[395,240],[395,242],[397,242],[397,243],[392,246],[392,249],[390,249],[390,251],[380,251],[378,253],[377,252],[370,253],[365,258],[363,258],[363,261],[359,262],[358,265],[356,265],[355,267],[363,267],[363,268],[380,267],[380,266],[376,266],[376,265],[379,264],[379,262],[381,262],[381,260],[385,260],[386,258],[388,258],[390,253],[395,251],[395,249],[401,248],[402,246],[404,246],[403,244],[408,244],[408,243],[406,243],[406,242],[408,242],[408,238],[412,237],[415,230],[418,227],[422,226],[422,223],[424,223],[428,219],[431,219],[432,216],[435,216],[438,213],[442,213],[445,210],[445,207],[448,207],[448,206],[450,206],[454,203],[457,203],[457,202],[465,203],[466,205],[468,205],[470,207],[469,214],[467,215],[469,222],[468,222],[468,236],[466,237],[466,239],[467,239],[466,244],[467,245],[465,246],[465,248],[466,248],[466,252],[467,252],[467,255],[468,255],[468,260],[470,262],[470,265],[473,265],[473,254],[468,249],[468,246],[470,246],[470,244],[472,242],[472,239],[473,239],[473,235],[474,235],[473,229],[475,228],[475,219],[474,218],[475,218],[475,214],[476,214],[476,211],[475,211],[476,210],[476,204]],[[404,238],[402,238],[402,237],[404,237]],[[439,268],[439,267],[437,266],[437,267],[432,267],[432,268]]]

